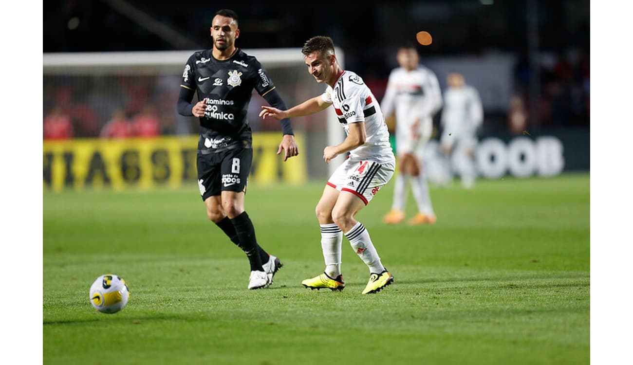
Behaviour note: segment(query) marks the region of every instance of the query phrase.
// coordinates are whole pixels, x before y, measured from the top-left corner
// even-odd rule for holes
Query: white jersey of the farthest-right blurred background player
[[[449,87],[444,92],[442,127],[456,138],[472,137],[484,119],[479,92],[474,87]]]

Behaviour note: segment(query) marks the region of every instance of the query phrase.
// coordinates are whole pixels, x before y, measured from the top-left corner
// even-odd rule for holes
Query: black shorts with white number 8
[[[197,154],[198,187],[205,201],[223,191],[246,192],[248,173],[253,162],[253,149]]]

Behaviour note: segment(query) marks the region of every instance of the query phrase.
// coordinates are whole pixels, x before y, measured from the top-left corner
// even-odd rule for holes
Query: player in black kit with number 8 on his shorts
[[[207,216],[248,256],[249,289],[268,287],[282,266],[258,245],[255,230],[244,211],[244,194],[251,162],[253,136],[246,120],[253,89],[275,108],[286,109],[266,70],[254,57],[235,47],[239,37],[237,14],[229,9],[213,17],[213,48],[191,55],[184,72],[178,113],[200,118],[197,175]],[[191,104],[194,92],[198,101]],[[299,154],[289,119],[280,121],[282,142],[277,154],[284,161]]]

